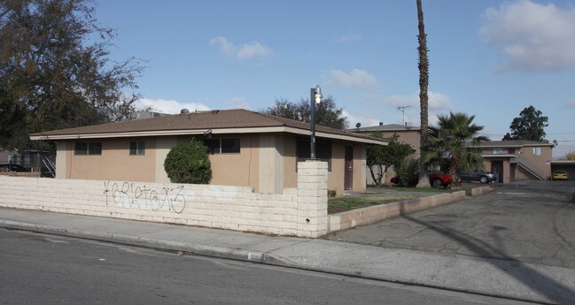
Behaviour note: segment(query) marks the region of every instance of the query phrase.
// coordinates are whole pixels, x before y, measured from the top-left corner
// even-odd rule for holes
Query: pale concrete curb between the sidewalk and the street
[[[98,240],[104,242],[136,246],[136,247],[155,248],[164,251],[173,251],[173,252],[184,251],[195,255],[203,255],[203,256],[231,259],[251,263],[262,263],[262,264],[299,269],[305,271],[319,271],[323,273],[347,276],[350,278],[381,280],[385,282],[403,284],[409,286],[424,286],[466,294],[478,294],[490,297],[504,298],[512,301],[529,301],[541,304],[553,304],[548,302],[547,300],[519,298],[512,294],[493,294],[493,293],[488,294],[480,290],[469,289],[464,287],[447,287],[447,286],[431,285],[423,281],[418,281],[415,278],[398,279],[398,278],[385,277],[383,275],[377,275],[377,274],[367,274],[361,272],[347,271],[345,269],[328,268],[322,266],[314,267],[305,264],[291,262],[290,260],[284,259],[283,257],[275,255],[271,252],[262,253],[242,248],[223,248],[223,247],[216,247],[213,245],[201,245],[201,244],[189,245],[180,242],[141,238],[124,234],[90,233],[86,231],[71,230],[52,225],[36,225],[36,224],[29,224],[24,222],[16,222],[2,219],[0,219],[0,227],[8,229],[17,229],[34,233],[49,233],[59,236],[82,238],[86,240]]]

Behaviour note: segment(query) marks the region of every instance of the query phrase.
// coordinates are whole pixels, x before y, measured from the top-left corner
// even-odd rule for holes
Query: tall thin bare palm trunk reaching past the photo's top
[[[417,48],[419,53],[419,107],[420,107],[420,136],[419,136],[419,156],[425,155],[425,143],[428,137],[428,100],[427,89],[429,86],[429,61],[427,59],[427,34],[425,34],[425,27],[423,25],[423,8],[421,0],[417,0],[417,21],[419,28],[419,35],[417,40],[419,42],[419,47]],[[425,162],[420,162],[419,167],[419,183],[417,187],[429,187],[427,176],[427,164]]]

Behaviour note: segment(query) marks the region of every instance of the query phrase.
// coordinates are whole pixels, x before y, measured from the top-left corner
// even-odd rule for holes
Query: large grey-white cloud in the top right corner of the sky
[[[575,66],[575,7],[517,0],[487,9],[479,30],[505,57],[499,71],[551,71]]]

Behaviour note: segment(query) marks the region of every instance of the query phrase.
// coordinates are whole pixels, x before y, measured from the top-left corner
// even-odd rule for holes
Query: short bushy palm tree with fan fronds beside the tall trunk
[[[452,187],[459,188],[462,186],[460,171],[485,168],[483,157],[471,146],[489,139],[478,135],[483,126],[473,123],[473,115],[450,112],[449,116],[438,115],[438,119],[438,126],[430,126],[426,153],[422,158],[424,162],[433,164],[442,164],[447,160]]]

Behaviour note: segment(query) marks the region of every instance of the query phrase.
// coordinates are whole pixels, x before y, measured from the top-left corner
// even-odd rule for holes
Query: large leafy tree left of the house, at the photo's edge
[[[54,149],[29,133],[128,118],[142,71],[108,59],[114,32],[89,0],[0,2],[0,149]]]

